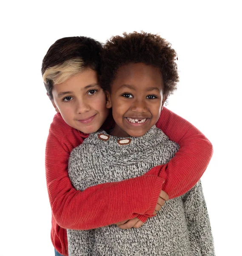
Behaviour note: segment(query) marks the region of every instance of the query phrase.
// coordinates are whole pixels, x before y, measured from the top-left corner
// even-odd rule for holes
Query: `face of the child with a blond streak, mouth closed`
[[[106,95],[98,84],[97,72],[87,69],[52,89],[55,110],[71,127],[90,134],[108,116]]]

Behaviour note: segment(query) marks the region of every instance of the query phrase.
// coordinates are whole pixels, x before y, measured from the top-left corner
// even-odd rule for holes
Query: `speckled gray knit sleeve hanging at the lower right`
[[[182,196],[182,201],[188,224],[191,254],[215,256],[214,240],[201,181]]]

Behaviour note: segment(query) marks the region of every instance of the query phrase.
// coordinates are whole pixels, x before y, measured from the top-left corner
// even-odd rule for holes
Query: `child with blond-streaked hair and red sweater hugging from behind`
[[[174,198],[196,184],[212,155],[211,143],[200,131],[164,108],[157,127],[180,145],[169,163],[139,177],[75,189],[68,177],[71,150],[101,126],[105,130],[114,126],[99,83],[100,55],[99,42],[71,37],[57,40],[43,59],[44,83],[57,111],[46,144],[51,240],[56,255],[68,255],[67,228],[89,230],[114,223],[122,229],[141,227],[168,199],[165,192]]]

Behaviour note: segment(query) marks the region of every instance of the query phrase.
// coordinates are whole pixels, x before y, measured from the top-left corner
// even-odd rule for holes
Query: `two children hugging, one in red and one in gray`
[[[177,54],[159,35],[57,40],[42,76],[56,255],[215,255],[200,177],[209,140],[163,107]]]

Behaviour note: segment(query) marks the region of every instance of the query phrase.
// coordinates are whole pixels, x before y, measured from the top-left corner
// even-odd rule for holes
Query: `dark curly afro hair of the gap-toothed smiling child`
[[[144,63],[158,67],[164,82],[164,94],[177,89],[177,53],[171,44],[159,35],[145,32],[123,33],[111,37],[102,52],[100,83],[103,90],[111,90],[118,69],[129,63]]]

